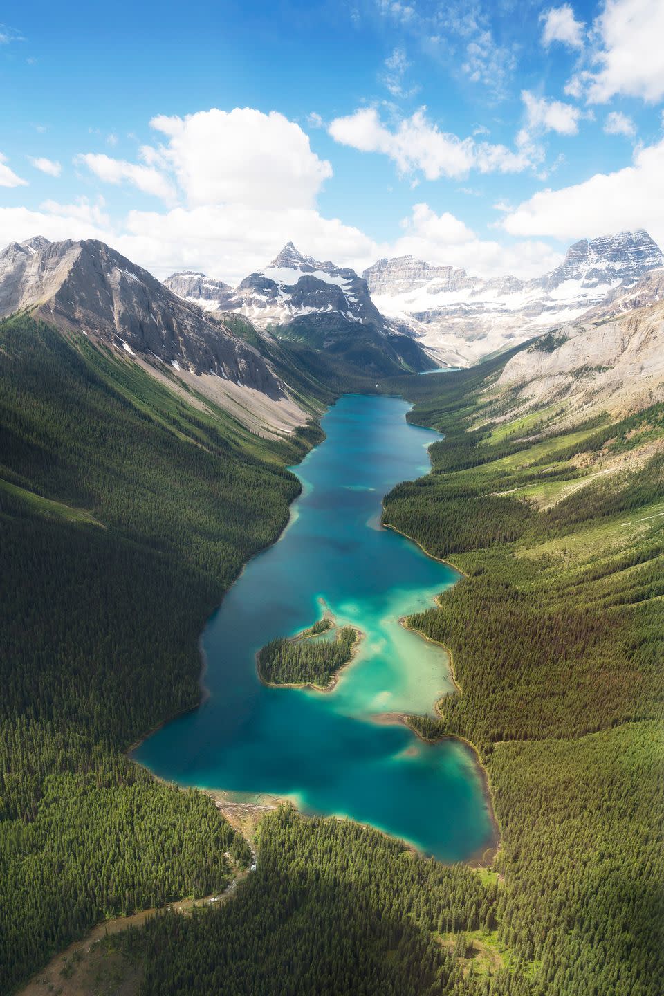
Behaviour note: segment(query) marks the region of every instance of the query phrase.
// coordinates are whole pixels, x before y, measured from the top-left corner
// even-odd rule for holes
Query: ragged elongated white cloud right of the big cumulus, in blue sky
[[[476,142],[441,131],[426,118],[424,109],[403,119],[390,131],[375,108],[363,108],[345,118],[336,118],[329,131],[335,141],[361,152],[382,152],[400,173],[420,169],[429,180],[440,176],[464,176],[471,169],[487,172],[520,172],[530,164],[522,152],[505,145]]]

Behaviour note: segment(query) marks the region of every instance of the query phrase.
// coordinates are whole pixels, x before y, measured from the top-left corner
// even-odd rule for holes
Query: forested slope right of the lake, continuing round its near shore
[[[511,421],[479,393],[499,369],[408,381],[446,437],[385,501],[468,575],[409,622],[453,651],[461,691],[429,732],[478,747],[492,870],[283,811],[237,901],[150,925],[143,996],[660,993],[661,412]]]

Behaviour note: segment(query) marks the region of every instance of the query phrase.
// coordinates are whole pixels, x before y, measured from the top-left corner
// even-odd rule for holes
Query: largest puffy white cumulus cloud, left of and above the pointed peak
[[[332,166],[312,151],[309,135],[276,111],[213,108],[186,118],[153,118],[164,134],[159,152],[191,207],[242,203],[309,208]]]

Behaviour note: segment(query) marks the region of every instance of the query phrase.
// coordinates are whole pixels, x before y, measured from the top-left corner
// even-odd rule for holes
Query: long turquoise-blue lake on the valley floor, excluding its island
[[[429,469],[431,431],[408,425],[393,397],[346,395],[327,439],[295,468],[303,494],[281,540],[256,557],[202,637],[210,696],[162,727],[134,758],[163,778],[288,796],[306,812],[348,816],[445,861],[491,838],[480,774],[456,741],[424,744],[389,712],[432,712],[451,688],[444,652],[399,625],[455,573],[380,527],[382,496]],[[268,688],[255,653],[321,615],[365,637],[329,693]]]

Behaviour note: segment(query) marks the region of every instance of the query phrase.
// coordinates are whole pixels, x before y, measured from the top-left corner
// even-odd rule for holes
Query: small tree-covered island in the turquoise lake
[[[335,630],[335,631],[334,631]],[[266,684],[330,691],[361,639],[353,626],[336,626],[330,613],[295,636],[273,639],[258,651],[259,677]]]

